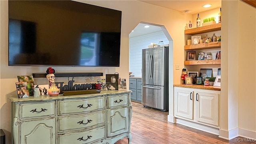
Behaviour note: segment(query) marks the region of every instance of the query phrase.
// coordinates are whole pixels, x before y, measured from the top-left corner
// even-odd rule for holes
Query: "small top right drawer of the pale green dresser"
[[[116,107],[116,106],[127,106],[128,105],[128,94],[117,94],[107,96],[107,106],[108,108]]]

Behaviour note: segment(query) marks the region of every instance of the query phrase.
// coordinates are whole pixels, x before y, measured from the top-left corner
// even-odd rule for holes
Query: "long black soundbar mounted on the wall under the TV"
[[[102,72],[54,73],[55,77],[103,76]],[[33,73],[33,78],[46,78],[46,73]]]

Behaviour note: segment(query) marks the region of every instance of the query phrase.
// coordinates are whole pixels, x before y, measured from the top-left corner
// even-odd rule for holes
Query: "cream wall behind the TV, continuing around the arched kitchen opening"
[[[174,63],[181,64],[181,66],[184,63],[184,50],[182,50],[184,47],[184,26],[189,21],[188,16],[184,13],[134,0],[92,0],[81,2],[122,11],[120,67],[54,67],[56,72],[103,72],[104,75],[118,72],[121,78],[128,80],[129,34],[140,22],[165,26],[174,41],[173,53],[176,54],[174,56]],[[0,30],[0,128],[4,129],[6,143],[8,144],[10,143],[11,136],[11,107],[10,100],[7,97],[11,94],[16,94],[16,77],[17,75],[45,72],[47,66],[8,66],[8,1],[6,0],[0,1]],[[179,54],[181,56],[178,56]],[[178,57],[178,59],[175,57]],[[172,66],[172,62],[170,65]],[[173,73],[173,82],[180,83],[181,70],[174,70]],[[45,82],[47,83],[47,80]],[[170,96],[172,96],[172,92],[170,92]]]

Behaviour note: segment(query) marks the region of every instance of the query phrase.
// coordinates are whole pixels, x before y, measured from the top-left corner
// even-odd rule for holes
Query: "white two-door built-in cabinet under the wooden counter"
[[[174,116],[218,127],[219,97],[217,90],[174,87]]]

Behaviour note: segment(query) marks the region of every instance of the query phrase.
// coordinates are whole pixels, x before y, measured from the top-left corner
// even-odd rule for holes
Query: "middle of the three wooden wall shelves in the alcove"
[[[203,44],[191,44],[184,46],[184,50],[203,50],[211,48],[220,48],[221,42],[206,42]]]

